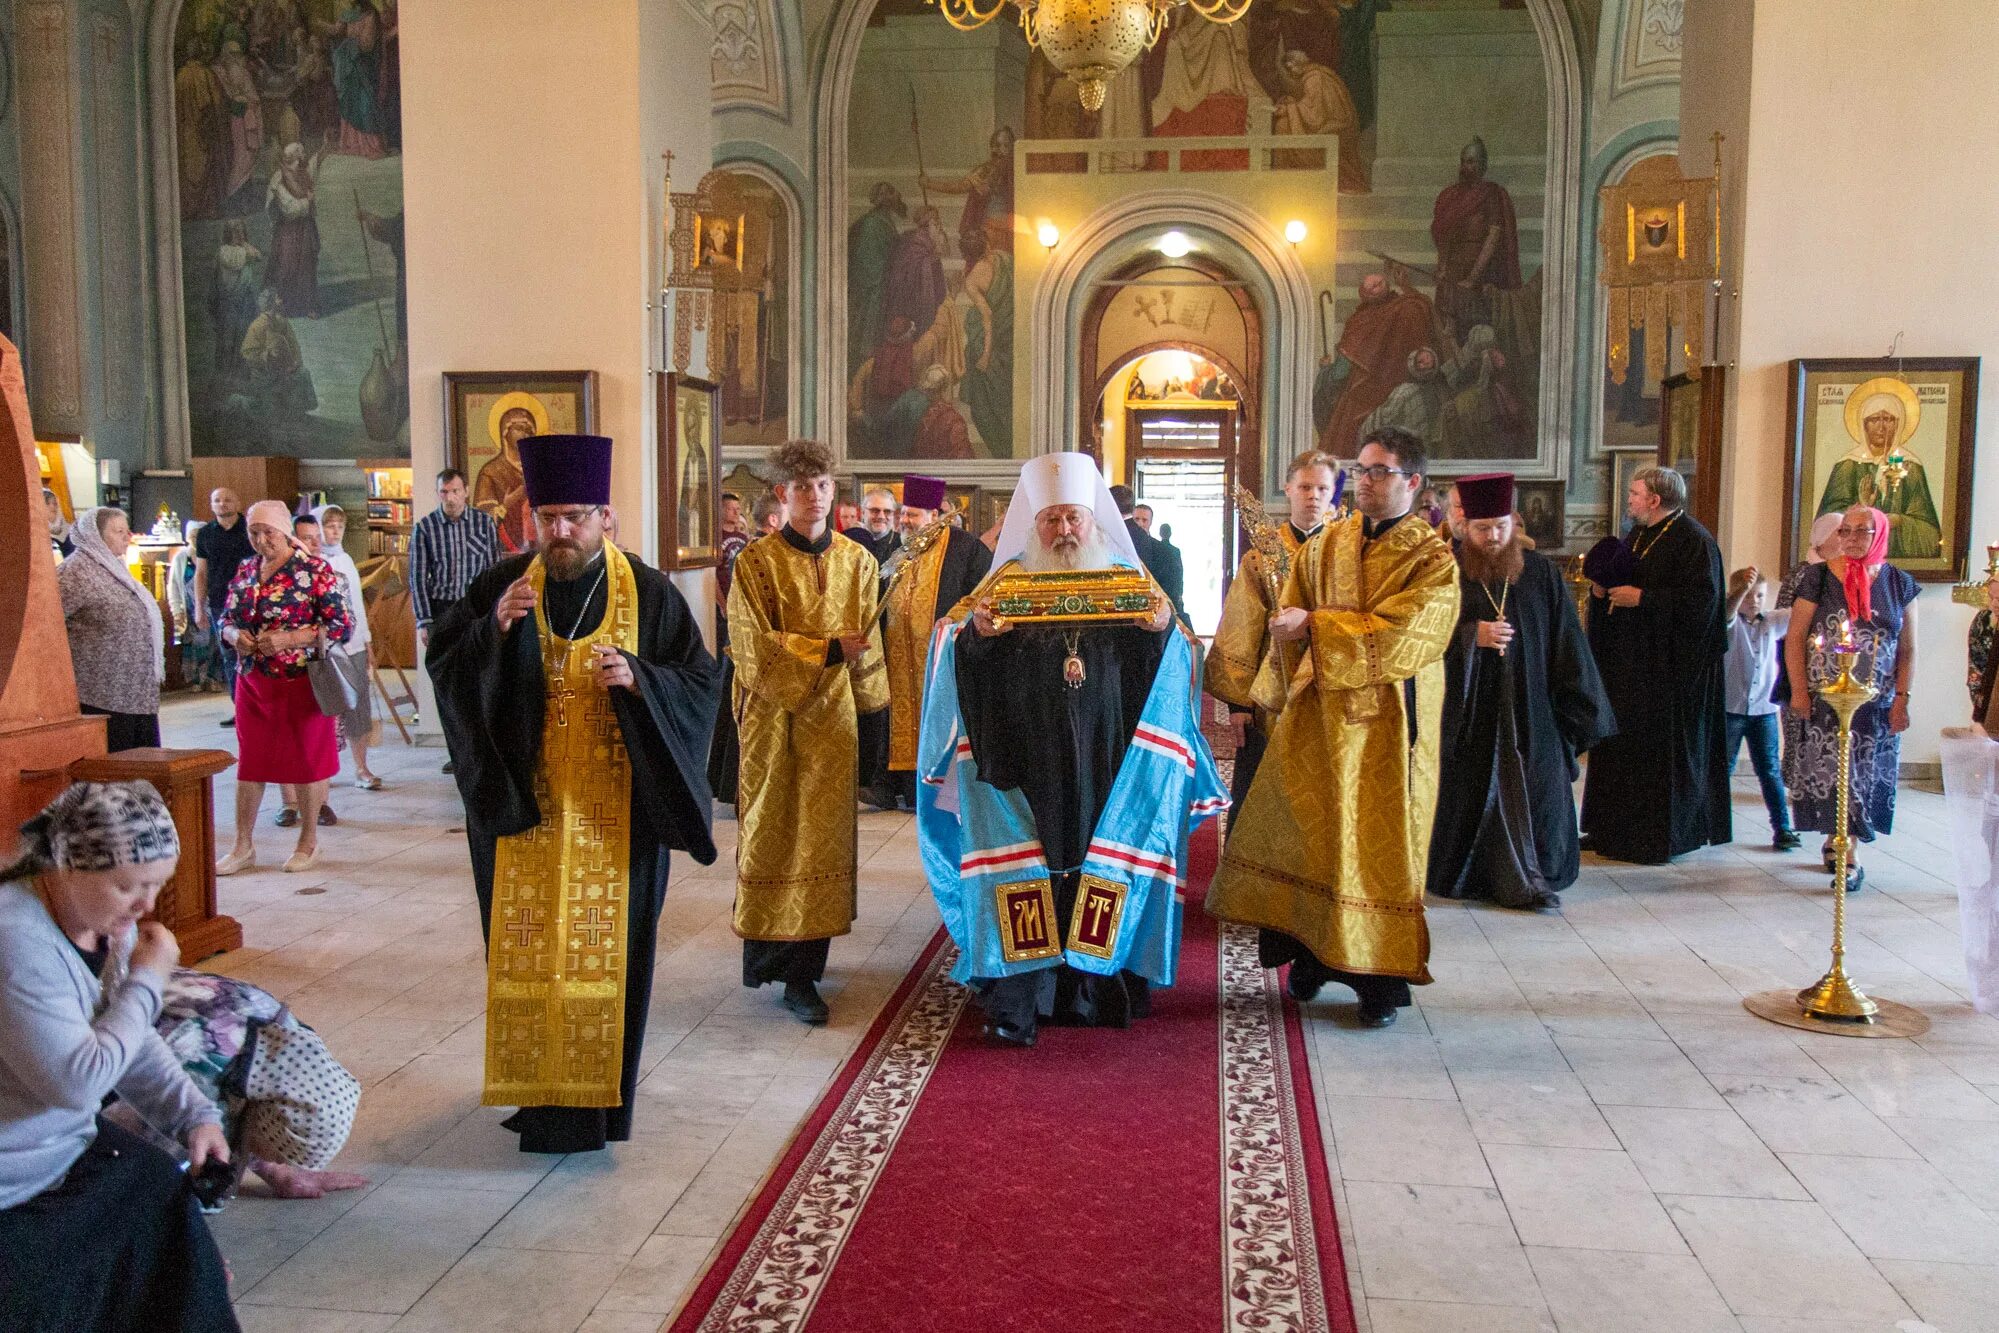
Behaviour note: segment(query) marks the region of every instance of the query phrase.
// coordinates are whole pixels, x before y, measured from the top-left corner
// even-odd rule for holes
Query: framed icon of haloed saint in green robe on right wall
[[[1889,564],[1959,578],[1971,540],[1979,358],[1791,362],[1789,522],[1783,562],[1821,514],[1869,504],[1889,522]]]

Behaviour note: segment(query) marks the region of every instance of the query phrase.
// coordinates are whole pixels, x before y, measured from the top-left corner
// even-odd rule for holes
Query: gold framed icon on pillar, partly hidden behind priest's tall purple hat
[[[588,436],[598,428],[594,370],[446,370],[446,458],[466,474],[472,504],[500,524],[500,546],[534,546],[520,472],[526,436]]]

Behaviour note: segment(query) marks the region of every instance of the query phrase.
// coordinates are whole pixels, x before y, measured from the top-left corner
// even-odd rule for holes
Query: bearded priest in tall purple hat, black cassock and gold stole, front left
[[[668,853],[702,865],[720,673],[604,528],[612,442],[520,442],[538,550],[430,632],[486,929],[486,1105],[524,1153],[632,1135]]]

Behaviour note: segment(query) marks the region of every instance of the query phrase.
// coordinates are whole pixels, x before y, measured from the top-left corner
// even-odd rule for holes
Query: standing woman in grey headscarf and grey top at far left
[[[166,624],[160,604],[126,568],[132,526],[124,510],[84,510],[70,540],[76,552],[56,570],[56,588],[76,699],[106,719],[104,745],[112,753],[158,745]]]

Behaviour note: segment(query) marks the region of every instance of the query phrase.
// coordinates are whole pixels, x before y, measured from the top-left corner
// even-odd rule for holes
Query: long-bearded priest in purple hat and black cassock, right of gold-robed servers
[[[1513,518],[1513,474],[1459,478],[1457,634],[1443,654],[1443,731],[1429,893],[1559,907],[1581,863],[1575,755],[1617,729],[1575,602]]]

